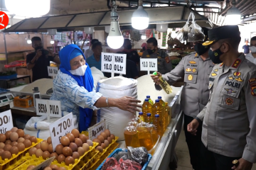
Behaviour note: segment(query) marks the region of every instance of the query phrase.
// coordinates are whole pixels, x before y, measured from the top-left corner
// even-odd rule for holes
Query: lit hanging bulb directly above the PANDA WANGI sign
[[[107,36],[107,45],[113,49],[118,49],[124,44],[124,38],[118,23],[117,6],[115,0],[112,1],[112,11],[110,13],[110,34]]]

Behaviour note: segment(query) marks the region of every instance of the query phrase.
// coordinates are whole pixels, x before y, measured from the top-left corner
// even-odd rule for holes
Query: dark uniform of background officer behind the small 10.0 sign
[[[159,49],[156,54],[151,55],[149,55],[147,51],[144,51],[142,58],[157,58],[157,72],[160,72],[161,74],[171,72],[172,64],[169,55],[161,49]]]

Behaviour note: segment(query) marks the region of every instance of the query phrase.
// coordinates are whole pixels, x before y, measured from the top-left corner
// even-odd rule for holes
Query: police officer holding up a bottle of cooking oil
[[[208,28],[203,28],[203,33],[207,40]],[[200,149],[201,149],[201,126],[198,127],[198,134],[191,135],[187,131],[188,123],[203,110],[209,98],[208,82],[209,74],[213,69],[213,62],[208,57],[210,47],[204,47],[203,42],[193,42],[194,49],[191,55],[183,57],[181,62],[171,72],[164,74],[163,77],[169,84],[184,77],[184,88],[181,94],[181,108],[184,113],[184,131],[188,145],[191,164],[193,169],[200,169]],[[156,84],[159,84],[158,77],[151,76]],[[156,89],[160,89],[156,86]]]

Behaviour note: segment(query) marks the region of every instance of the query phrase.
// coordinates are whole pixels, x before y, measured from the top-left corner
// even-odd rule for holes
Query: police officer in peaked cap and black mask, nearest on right
[[[196,134],[203,121],[203,170],[250,170],[256,162],[256,66],[238,52],[238,26],[208,31],[209,57],[216,64],[210,73],[210,97],[190,124]],[[233,160],[238,163],[233,166]]]

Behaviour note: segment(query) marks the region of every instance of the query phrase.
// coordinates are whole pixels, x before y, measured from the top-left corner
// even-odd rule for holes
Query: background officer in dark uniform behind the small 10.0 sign
[[[156,38],[149,38],[146,41],[147,49],[143,52],[142,58],[157,58],[158,72],[166,74],[171,71],[172,65],[169,56],[157,47]]]

